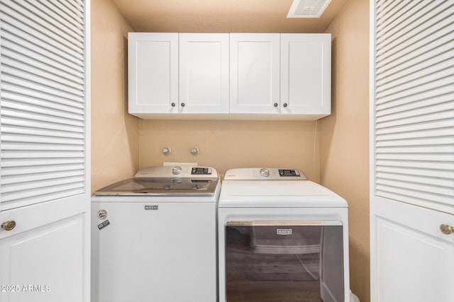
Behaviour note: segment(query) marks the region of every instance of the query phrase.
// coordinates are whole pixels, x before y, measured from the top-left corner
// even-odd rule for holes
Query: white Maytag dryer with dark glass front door
[[[228,170],[218,234],[219,302],[349,301],[347,202],[300,170]]]

